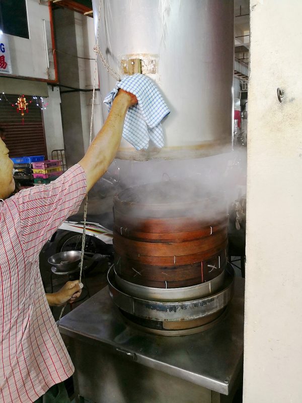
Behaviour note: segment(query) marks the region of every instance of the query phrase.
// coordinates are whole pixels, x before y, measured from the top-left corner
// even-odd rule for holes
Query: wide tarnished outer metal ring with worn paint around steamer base
[[[230,264],[228,264],[225,271],[220,291],[216,294],[190,301],[160,302],[130,296],[119,290],[113,267],[110,268],[107,278],[110,296],[122,311],[139,318],[154,321],[188,321],[215,314],[228,305],[234,291],[234,269]]]

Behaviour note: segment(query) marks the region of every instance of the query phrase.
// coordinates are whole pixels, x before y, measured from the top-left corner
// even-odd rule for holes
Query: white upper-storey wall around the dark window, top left
[[[16,7],[17,6],[16,2]],[[27,0],[27,18],[30,39],[3,34],[8,39],[12,74],[14,76],[34,77],[54,80],[50,17],[48,2]],[[45,20],[47,49],[44,39],[43,19]],[[46,62],[49,58],[49,69]]]

